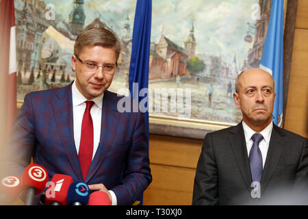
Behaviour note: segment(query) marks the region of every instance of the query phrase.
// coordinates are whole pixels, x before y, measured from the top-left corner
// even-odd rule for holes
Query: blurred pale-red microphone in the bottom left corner
[[[14,203],[21,194],[21,177],[9,176],[3,178],[0,192],[1,203],[4,205]]]

